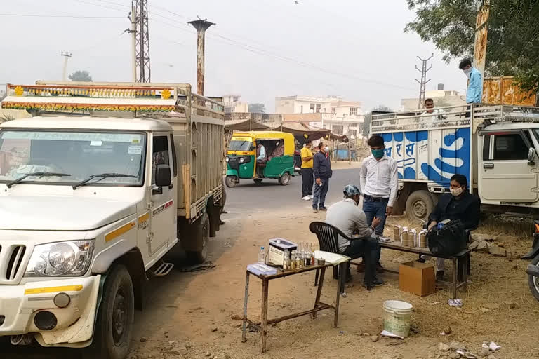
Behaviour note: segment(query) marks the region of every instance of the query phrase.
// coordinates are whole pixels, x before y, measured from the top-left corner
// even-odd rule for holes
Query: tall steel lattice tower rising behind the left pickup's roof
[[[130,30],[135,31],[135,82],[150,82],[148,0],[135,0],[134,6],[131,4],[131,12],[131,26],[133,22],[137,25]]]

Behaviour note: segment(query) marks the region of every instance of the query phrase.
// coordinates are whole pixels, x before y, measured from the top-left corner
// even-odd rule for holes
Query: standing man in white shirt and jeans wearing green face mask
[[[385,154],[384,139],[373,135],[368,139],[371,156],[361,163],[359,184],[363,193],[363,210],[370,226],[374,217],[380,218],[375,234],[384,233],[385,219],[392,214],[399,189],[397,162]]]

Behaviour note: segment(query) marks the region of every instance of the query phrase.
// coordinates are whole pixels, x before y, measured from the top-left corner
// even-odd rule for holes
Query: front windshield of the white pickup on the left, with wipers
[[[128,185],[143,182],[146,135],[143,133],[0,131],[0,183],[29,173],[19,184],[76,184],[96,173],[122,173],[87,186]],[[67,174],[67,175],[66,175]]]

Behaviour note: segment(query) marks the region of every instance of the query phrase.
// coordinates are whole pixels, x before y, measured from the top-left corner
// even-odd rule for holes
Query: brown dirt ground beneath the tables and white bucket
[[[241,343],[241,320],[235,319],[242,315],[246,265],[256,262],[260,245],[266,245],[269,238],[310,241],[318,247],[307,227],[313,220],[323,220],[324,214],[305,210],[298,215],[285,208],[271,215],[228,216],[227,224],[211,241],[215,269],[152,281],[147,311],[137,315],[131,358],[446,358],[448,353],[440,352],[439,344],[450,341],[460,341],[472,353],[478,353],[484,341],[495,341],[501,346],[495,358],[539,358],[539,303],[528,290],[527,262],[516,259],[528,251],[531,241],[518,226],[504,228],[496,221],[479,232],[509,233],[511,236],[497,242],[513,255],[472,253],[472,283],[467,291],[459,292],[462,308],[448,306],[450,293],[445,289],[428,297],[401,292],[398,277],[389,273],[380,275],[386,285],[368,292],[361,286],[363,274],[353,272],[347,297],[340,300],[338,328],[333,327],[331,311],[320,312],[317,319],[287,320],[269,327],[267,352],[260,354],[260,334],[248,333],[248,341]],[[402,217],[388,222],[388,227],[407,224]],[[400,262],[414,258],[382,250],[381,262],[397,269]],[[261,285],[251,278],[248,316],[258,320]],[[272,280],[269,317],[311,309],[313,283],[314,272]],[[335,294],[330,271],[323,299],[331,304]],[[371,336],[382,330],[382,303],[387,299],[413,304],[417,333],[404,340],[372,341]],[[447,327],[451,334],[442,336]]]

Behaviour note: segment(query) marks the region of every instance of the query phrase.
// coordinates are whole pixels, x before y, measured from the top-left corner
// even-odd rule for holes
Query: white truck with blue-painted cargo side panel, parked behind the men
[[[539,208],[539,107],[477,104],[373,116],[397,161],[394,214],[425,221],[451,176],[465,175],[482,209],[533,215]]]

